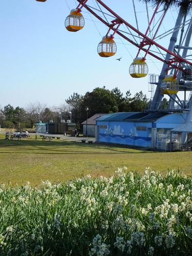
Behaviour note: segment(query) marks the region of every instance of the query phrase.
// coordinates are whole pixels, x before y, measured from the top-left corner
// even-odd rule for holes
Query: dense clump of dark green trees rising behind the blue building
[[[97,87],[84,96],[74,93],[66,102],[72,110],[74,122],[80,123],[87,118],[87,108],[89,116],[116,112],[139,112],[147,109],[148,99],[141,91],[132,97],[130,91],[123,96],[117,87],[112,91],[105,87]]]

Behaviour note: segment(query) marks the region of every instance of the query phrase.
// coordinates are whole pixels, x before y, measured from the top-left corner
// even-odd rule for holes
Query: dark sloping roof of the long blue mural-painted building
[[[144,121],[154,122],[157,119],[167,115],[167,113],[147,113],[147,112],[121,112],[107,114],[98,118],[98,121]]]

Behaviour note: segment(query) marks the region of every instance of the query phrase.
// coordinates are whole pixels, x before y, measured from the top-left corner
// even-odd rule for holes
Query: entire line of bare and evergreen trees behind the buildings
[[[81,123],[86,120],[89,109],[89,117],[94,114],[108,114],[115,112],[139,112],[147,109],[148,99],[142,91],[131,95],[130,91],[123,93],[116,87],[113,90],[95,88],[85,95],[73,93],[66,102],[48,108],[45,104],[30,103],[26,108],[17,106],[13,108],[8,104],[0,110],[1,127],[16,129],[32,128],[37,122],[59,122],[62,119],[68,120],[72,116],[72,122]]]

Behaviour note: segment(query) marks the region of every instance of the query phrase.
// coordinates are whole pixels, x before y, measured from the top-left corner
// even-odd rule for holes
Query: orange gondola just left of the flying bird
[[[111,36],[104,36],[97,47],[97,52],[101,57],[111,57],[116,54],[116,51],[117,46]]]

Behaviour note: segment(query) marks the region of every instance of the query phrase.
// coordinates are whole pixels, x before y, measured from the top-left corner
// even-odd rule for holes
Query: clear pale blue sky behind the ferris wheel
[[[131,0],[103,2],[136,26]],[[82,12],[86,26],[81,31],[72,33],[65,29],[65,18],[76,4],[74,0],[1,1],[0,106],[10,103],[25,107],[36,101],[59,105],[73,92],[84,95],[103,86],[110,90],[118,87],[123,93],[130,89],[132,95],[142,90],[150,97],[148,77],[138,80],[129,75],[137,49],[121,44],[117,38],[116,55],[101,58],[97,45],[107,29],[87,12]],[[88,4],[93,5],[93,0]],[[139,26],[145,31],[147,24],[142,18],[146,12],[137,0],[136,9]],[[163,44],[166,47],[167,41]],[[115,60],[121,56],[121,61]],[[149,73],[159,74],[161,66],[160,62],[148,61]]]

